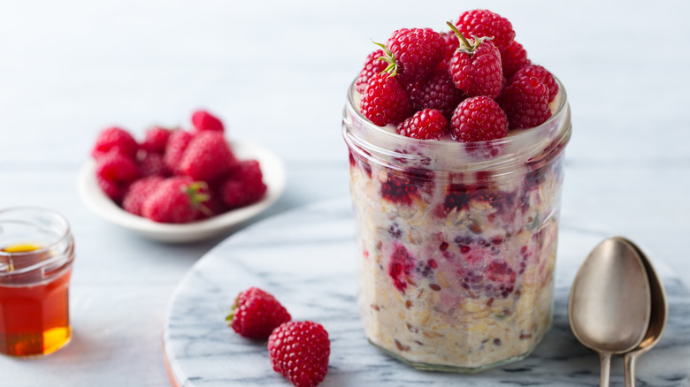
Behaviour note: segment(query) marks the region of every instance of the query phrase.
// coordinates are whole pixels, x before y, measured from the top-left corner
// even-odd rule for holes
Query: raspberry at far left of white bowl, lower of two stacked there
[[[96,160],[96,181],[113,201],[122,201],[127,187],[142,176],[134,160],[119,153],[119,149],[99,156]]]

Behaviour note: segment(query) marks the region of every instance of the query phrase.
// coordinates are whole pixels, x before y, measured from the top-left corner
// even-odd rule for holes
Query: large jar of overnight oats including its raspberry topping
[[[366,337],[416,368],[475,372],[523,359],[551,325],[571,117],[508,20],[449,27],[372,52],[343,135]]]

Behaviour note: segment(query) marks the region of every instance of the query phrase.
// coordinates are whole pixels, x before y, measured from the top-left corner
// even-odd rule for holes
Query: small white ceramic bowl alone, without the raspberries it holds
[[[185,243],[218,236],[268,209],[278,200],[285,188],[285,166],[280,158],[256,144],[238,140],[228,142],[237,158],[240,160],[256,159],[261,165],[264,183],[268,186],[265,197],[261,201],[199,222],[189,224],[157,223],[126,212],[103,194],[103,190],[96,182],[96,163],[93,160],[85,163],[79,171],[77,187],[80,198],[88,209],[91,209],[97,216],[149,239]]]

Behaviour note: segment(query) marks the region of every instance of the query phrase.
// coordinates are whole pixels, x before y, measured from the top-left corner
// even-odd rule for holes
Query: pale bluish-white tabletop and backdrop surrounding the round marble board
[[[141,135],[154,122],[186,124],[206,107],[226,118],[232,135],[286,163],[286,192],[260,217],[345,197],[341,107],[370,40],[399,27],[437,27],[477,7],[510,18],[530,57],[568,89],[574,132],[563,217],[639,242],[690,285],[684,1],[7,0],[0,207],[62,212],[78,256],[73,342],[42,359],[0,357],[2,385],[165,385],[168,302],[221,240],[168,246],[91,214],[75,179],[98,130],[119,124]]]

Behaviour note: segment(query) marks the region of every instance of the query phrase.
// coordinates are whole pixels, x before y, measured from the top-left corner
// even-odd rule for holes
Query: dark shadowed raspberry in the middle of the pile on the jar
[[[464,95],[447,69],[436,69],[426,79],[421,80],[408,89],[414,110],[441,110],[443,117],[450,119],[457,104],[463,101]]]

